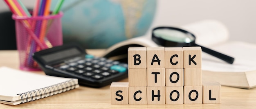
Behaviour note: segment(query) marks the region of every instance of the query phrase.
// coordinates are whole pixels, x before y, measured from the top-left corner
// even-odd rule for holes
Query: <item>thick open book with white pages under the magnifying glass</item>
[[[202,52],[202,81],[217,81],[221,85],[240,88],[256,87],[256,45],[228,41],[229,31],[220,22],[204,20],[180,26],[196,37],[196,44],[235,58],[233,64]],[[157,47],[150,35],[122,41],[108,48],[103,57],[127,61],[128,47]]]

